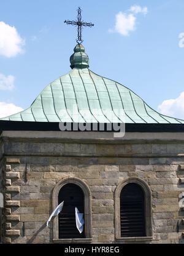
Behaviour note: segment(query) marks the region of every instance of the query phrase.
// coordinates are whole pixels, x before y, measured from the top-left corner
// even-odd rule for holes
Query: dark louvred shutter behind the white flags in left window
[[[59,238],[84,238],[85,232],[80,234],[75,223],[75,207],[84,213],[84,196],[81,188],[75,184],[64,185],[59,191],[58,204],[64,201],[62,212],[58,216]]]

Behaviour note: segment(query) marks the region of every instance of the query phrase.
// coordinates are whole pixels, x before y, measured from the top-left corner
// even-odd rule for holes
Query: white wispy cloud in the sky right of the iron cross
[[[115,27],[109,30],[110,33],[117,32],[123,36],[128,36],[130,31],[136,30],[136,15],[147,14],[147,7],[131,6],[128,12],[118,12],[116,15]]]

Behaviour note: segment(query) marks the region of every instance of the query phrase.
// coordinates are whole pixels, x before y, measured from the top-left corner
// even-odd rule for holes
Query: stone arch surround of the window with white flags
[[[55,188],[53,189],[52,195],[52,210],[58,206],[59,200],[59,191],[61,194],[62,188],[74,186],[74,191],[79,188],[79,191],[83,192],[83,210],[84,210],[84,231],[82,238],[59,238],[59,225],[58,225],[58,216],[53,218],[53,242],[91,242],[91,193],[88,185],[79,178],[64,178],[59,181]],[[74,192],[75,193],[75,192]]]

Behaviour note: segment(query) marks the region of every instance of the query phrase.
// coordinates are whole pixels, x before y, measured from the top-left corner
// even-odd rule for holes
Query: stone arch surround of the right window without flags
[[[134,185],[137,189],[140,188],[144,195],[144,225],[145,232],[144,236],[123,236],[121,233],[121,219],[120,219],[120,198],[122,196],[121,191],[124,191],[123,188],[128,188],[126,185]],[[133,187],[133,186],[132,186]],[[137,190],[138,191],[138,190]],[[123,180],[123,182],[119,183],[115,190],[115,238],[117,241],[148,241],[153,239],[153,231],[152,231],[152,196],[150,187],[147,183],[141,178],[130,177]],[[123,237],[121,237],[121,234]]]

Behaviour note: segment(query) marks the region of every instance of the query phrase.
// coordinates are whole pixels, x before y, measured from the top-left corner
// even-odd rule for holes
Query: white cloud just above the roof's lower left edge
[[[13,103],[0,102],[0,118],[5,118],[22,110],[23,108],[15,106]]]

